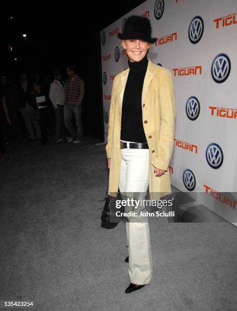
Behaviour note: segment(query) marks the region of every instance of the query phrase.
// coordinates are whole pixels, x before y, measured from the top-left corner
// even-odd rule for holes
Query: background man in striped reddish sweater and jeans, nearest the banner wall
[[[64,122],[71,137],[67,140],[74,143],[80,143],[82,140],[82,99],[84,97],[84,81],[75,73],[74,66],[66,67],[66,74],[69,77],[65,83],[65,105],[64,105]],[[77,131],[75,132],[72,118],[75,117]]]

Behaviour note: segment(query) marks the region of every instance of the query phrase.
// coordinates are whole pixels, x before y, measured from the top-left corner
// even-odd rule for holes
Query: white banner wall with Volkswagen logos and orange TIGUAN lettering
[[[101,30],[105,141],[116,74],[128,68],[117,34],[148,17],[148,57],[174,77],[172,184],[237,226],[237,1],[148,0]]]

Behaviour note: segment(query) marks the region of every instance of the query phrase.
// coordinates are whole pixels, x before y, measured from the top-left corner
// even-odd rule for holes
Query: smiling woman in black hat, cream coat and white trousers
[[[170,71],[147,58],[151,38],[149,19],[130,16],[124,26],[122,46],[129,68],[113,82],[108,143],[106,145],[109,194],[151,200],[171,192],[168,163],[175,130],[174,84]],[[141,204],[138,210],[143,210]],[[153,265],[148,218],[127,217],[126,239],[130,293],[149,284]]]

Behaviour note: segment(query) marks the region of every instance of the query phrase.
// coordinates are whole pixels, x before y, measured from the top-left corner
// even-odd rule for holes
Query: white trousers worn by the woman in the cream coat
[[[123,140],[121,140],[123,141]],[[129,143],[129,142],[128,142]],[[144,199],[149,182],[149,149],[121,149],[119,190],[122,196]],[[143,207],[142,207],[143,208]],[[133,284],[149,284],[153,264],[148,217],[127,217],[128,274]]]

